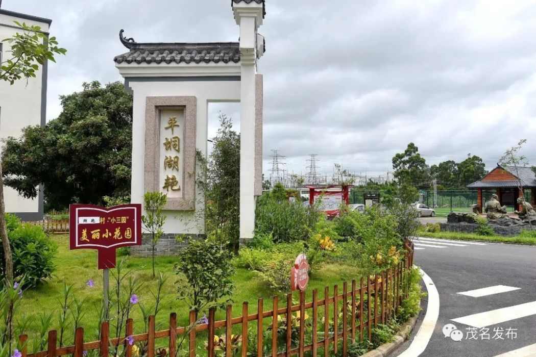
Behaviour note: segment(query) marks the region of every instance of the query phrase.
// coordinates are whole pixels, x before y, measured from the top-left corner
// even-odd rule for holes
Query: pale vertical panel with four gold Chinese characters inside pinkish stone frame
[[[160,110],[160,191],[181,198],[184,188],[184,110]]]

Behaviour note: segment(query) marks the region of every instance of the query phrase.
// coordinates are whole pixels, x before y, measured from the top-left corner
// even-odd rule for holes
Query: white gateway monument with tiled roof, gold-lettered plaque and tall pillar
[[[257,63],[265,47],[257,30],[265,4],[231,4],[239,42],[138,43],[120,32],[128,52],[114,62],[134,101],[131,203],[143,204],[148,191],[168,195],[167,245],[177,234],[205,234],[195,169],[196,151],[207,154],[210,102],[240,102],[240,239],[253,237],[255,198],[262,194],[263,79]]]

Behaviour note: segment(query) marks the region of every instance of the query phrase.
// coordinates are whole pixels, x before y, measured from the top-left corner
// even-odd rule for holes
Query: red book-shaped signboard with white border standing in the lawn
[[[142,205],[71,204],[70,249],[97,249],[99,269],[115,267],[115,249],[142,244]]]

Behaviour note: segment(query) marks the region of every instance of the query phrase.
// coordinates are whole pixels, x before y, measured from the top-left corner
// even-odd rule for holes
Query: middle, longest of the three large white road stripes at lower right
[[[516,320],[516,318],[531,315],[536,315],[536,301],[522,303],[521,305],[503,307],[501,309],[486,311],[479,314],[453,318],[452,321],[480,329],[486,326]]]

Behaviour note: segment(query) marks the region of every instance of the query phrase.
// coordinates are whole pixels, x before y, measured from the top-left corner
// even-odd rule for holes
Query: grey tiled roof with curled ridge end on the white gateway
[[[115,56],[115,63],[240,62],[239,42],[137,43],[132,38],[123,37],[123,30],[119,37],[130,51]]]

